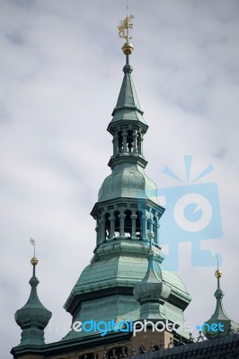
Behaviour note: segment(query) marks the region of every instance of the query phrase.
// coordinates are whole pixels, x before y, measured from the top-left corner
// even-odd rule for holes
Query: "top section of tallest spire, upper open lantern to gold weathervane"
[[[113,136],[113,155],[109,162],[111,169],[114,165],[123,162],[134,162],[142,168],[145,168],[147,163],[143,155],[143,140],[148,126],[131,76],[133,68],[129,65],[129,56],[134,50],[133,45],[128,42],[131,39],[128,36],[128,30],[133,27],[132,19],[134,16],[127,14],[118,27],[120,38],[127,40],[122,46],[122,51],[126,56],[126,65],[123,67],[124,78],[120,95],[112,112],[111,123],[107,128]]]

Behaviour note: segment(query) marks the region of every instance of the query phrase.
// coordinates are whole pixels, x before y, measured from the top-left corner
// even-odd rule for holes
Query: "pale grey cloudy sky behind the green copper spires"
[[[41,302],[53,312],[46,341],[64,337],[63,304],[93,256],[89,215],[110,173],[111,121],[124,56],[117,26],[125,1],[0,0],[0,354],[20,342],[14,312],[27,301],[31,236],[40,263]],[[200,241],[223,259],[227,314],[239,321],[237,0],[129,0],[134,13],[133,78],[149,125],[147,175],[158,188],[185,182],[192,155],[198,183],[217,183],[224,235]],[[215,267],[191,264],[191,242],[179,243],[178,274],[193,301],[185,319],[215,309]],[[176,244],[178,245],[178,244]],[[165,253],[169,250],[164,246]]]

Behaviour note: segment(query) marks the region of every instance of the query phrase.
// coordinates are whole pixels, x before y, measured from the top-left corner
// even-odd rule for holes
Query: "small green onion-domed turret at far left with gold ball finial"
[[[37,286],[39,285],[39,280],[35,272],[37,264],[38,259],[35,257],[31,258],[33,274],[29,281],[31,285],[30,297],[26,304],[15,312],[15,321],[22,328],[20,346],[41,346],[45,344],[44,328],[46,328],[51,318],[51,312],[41,304],[38,297]]]

